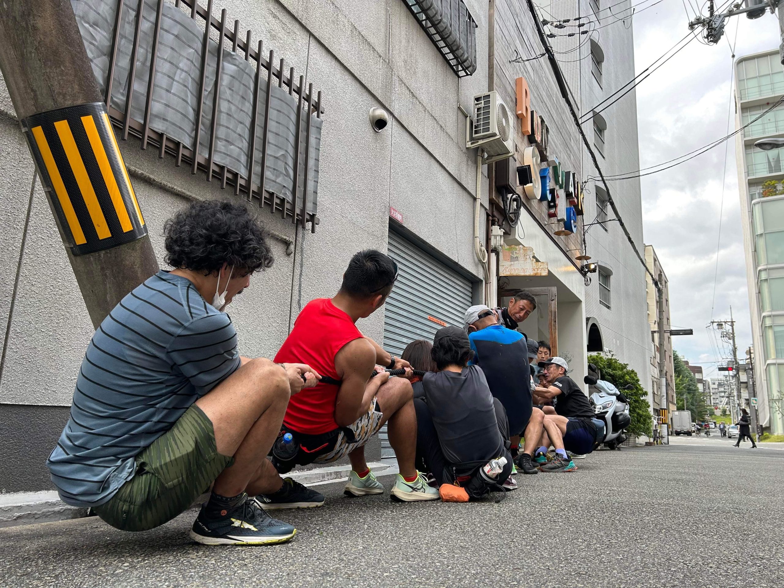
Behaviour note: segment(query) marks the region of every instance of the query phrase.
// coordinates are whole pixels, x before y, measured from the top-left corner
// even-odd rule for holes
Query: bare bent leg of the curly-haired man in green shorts
[[[213,492],[223,496],[235,496],[246,489],[259,493],[255,485],[249,488],[249,482],[267,462],[290,394],[289,378],[279,365],[253,359],[196,401],[212,421],[218,452],[234,456],[234,464],[217,477]],[[282,481],[275,484],[268,480],[269,492],[280,488]]]

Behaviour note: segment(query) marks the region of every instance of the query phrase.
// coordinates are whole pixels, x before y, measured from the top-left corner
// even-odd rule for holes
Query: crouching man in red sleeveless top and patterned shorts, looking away
[[[372,249],[359,252],[351,258],[336,296],[311,300],[299,313],[275,361],[307,363],[321,374],[321,382],[289,400],[281,434],[270,451],[279,474],[296,465],[348,456],[352,471],[345,493],[381,494],[383,485],[365,461],[365,444],[389,423],[390,444],[400,466],[393,499],[439,498],[437,489],[427,485],[414,466],[416,412],[411,383],[390,378],[382,368],[372,376],[376,365],[398,369],[410,365],[363,336],[355,324],[383,306],[396,279],[397,264],[390,257]],[[278,476],[278,480],[278,492],[257,497],[265,510],[324,504],[318,492],[289,477]]]

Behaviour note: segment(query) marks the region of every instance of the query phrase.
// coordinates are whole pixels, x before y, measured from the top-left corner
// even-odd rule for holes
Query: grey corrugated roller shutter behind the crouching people
[[[389,256],[397,263],[394,289],[384,307],[383,347],[400,356],[414,339],[432,341],[442,325],[462,326],[471,306],[471,282],[410,241],[390,231]],[[387,426],[379,431],[381,456],[394,457]]]

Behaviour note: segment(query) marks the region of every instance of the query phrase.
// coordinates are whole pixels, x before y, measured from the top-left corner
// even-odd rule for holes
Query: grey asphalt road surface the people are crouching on
[[[282,511],[299,533],[280,546],[195,545],[194,512],[136,534],[97,518],[0,529],[0,586],[784,586],[780,448],[686,437],[577,463],[519,475],[498,504],[322,485],[324,507]]]

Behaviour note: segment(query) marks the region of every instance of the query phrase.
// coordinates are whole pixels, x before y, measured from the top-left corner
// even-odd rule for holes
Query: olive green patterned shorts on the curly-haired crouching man
[[[192,405],[136,456],[136,474],[94,510],[122,531],[147,531],[187,510],[231,463],[218,453],[212,421]]]

